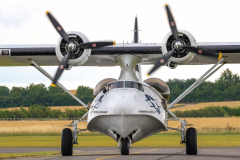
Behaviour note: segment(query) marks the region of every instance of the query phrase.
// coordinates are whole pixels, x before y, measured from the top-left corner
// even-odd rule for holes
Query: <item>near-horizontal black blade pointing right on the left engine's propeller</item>
[[[88,42],[88,43],[81,43],[77,45],[77,47],[84,48],[84,49],[91,49],[91,48],[99,48],[109,45],[115,45],[115,41],[105,41],[105,42]]]

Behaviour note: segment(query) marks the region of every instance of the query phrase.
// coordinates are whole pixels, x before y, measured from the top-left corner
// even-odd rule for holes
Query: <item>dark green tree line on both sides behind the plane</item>
[[[170,102],[184,92],[196,79],[172,79],[166,83],[170,88]],[[93,90],[79,86],[76,96],[84,103],[92,102]],[[229,69],[224,70],[215,82],[203,82],[180,103],[220,102],[240,100],[240,77]],[[44,84],[30,84],[27,87],[0,86],[0,108],[43,106],[78,106],[75,99],[59,87],[46,87]]]

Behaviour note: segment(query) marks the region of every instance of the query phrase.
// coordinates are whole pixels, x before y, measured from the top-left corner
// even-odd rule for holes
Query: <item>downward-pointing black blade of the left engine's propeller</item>
[[[69,57],[70,57],[70,51],[67,51],[67,54],[63,57],[62,61],[60,62],[57,72],[53,78],[53,82],[51,84],[52,87],[56,87],[56,83],[57,83],[59,77],[61,76],[62,72],[64,71]]]

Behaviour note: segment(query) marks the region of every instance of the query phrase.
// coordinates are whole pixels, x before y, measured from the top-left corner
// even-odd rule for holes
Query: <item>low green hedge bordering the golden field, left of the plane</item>
[[[28,109],[20,107],[14,110],[1,110],[0,118],[80,118],[86,113],[86,109],[71,110],[51,109],[42,105],[32,105]]]

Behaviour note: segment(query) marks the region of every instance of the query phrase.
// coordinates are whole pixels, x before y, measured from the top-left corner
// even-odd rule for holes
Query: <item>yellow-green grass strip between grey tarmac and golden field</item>
[[[104,135],[79,136],[75,147],[116,147],[117,142]],[[0,148],[60,147],[61,136],[2,136]],[[180,135],[153,135],[133,147],[183,147]],[[198,147],[240,147],[240,135],[198,135]]]

